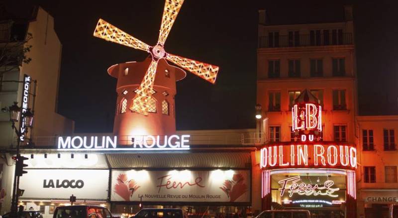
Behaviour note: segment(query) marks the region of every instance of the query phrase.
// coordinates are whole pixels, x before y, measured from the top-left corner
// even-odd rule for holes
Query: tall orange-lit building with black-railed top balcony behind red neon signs
[[[348,165],[348,168],[346,163],[336,164],[333,160],[319,164],[316,154],[320,153],[313,150],[319,148],[326,155],[330,149],[332,156],[337,151],[344,156],[350,153],[342,154],[344,149],[354,151],[356,148],[354,130],[358,104],[352,8],[345,6],[344,18],[328,23],[279,25],[268,22],[266,10],[260,10],[259,13],[257,103],[263,108],[266,125],[258,127],[265,128],[263,131],[268,136],[261,160],[264,161],[263,209],[305,208],[319,216],[354,217],[356,163]],[[321,106],[318,121],[322,121],[322,126],[319,126],[319,135],[313,141],[300,139],[293,131],[297,126],[292,128],[295,125],[292,123],[292,108],[297,103],[295,100],[303,95],[310,100],[319,100]],[[316,102],[312,101],[314,104]],[[303,144],[308,146],[308,151],[301,150]],[[297,149],[296,154],[286,154],[293,155],[291,162],[284,163],[281,157],[276,165],[285,169],[281,172],[267,162],[267,157],[270,161],[277,153],[283,154],[282,150],[275,147],[279,145],[281,149],[289,148],[292,152]],[[337,150],[336,146],[340,149]],[[271,151],[276,153],[271,154]],[[303,158],[308,158],[308,162],[294,162],[294,157],[299,158],[300,152],[304,153]],[[351,160],[356,158],[354,153],[349,156]],[[324,158],[319,156],[319,161]],[[283,182],[284,178],[292,176],[298,180]],[[313,193],[303,195],[291,192],[291,195],[286,195],[281,190],[286,188],[284,184],[293,187],[299,181],[306,187],[323,186],[321,189],[333,181],[333,189],[340,193],[319,198]]]

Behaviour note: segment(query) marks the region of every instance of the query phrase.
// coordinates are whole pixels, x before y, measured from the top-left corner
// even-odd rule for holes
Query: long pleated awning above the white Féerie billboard
[[[107,154],[111,168],[250,168],[250,152]]]

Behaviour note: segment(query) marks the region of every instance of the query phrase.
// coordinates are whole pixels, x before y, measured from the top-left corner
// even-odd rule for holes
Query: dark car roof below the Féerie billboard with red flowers
[[[188,218],[182,209],[142,209],[133,218]]]

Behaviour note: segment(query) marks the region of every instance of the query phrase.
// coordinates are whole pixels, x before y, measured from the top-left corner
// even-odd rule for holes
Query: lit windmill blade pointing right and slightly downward
[[[173,54],[167,54],[166,59],[212,84],[215,83],[219,69],[218,66],[183,58]]]

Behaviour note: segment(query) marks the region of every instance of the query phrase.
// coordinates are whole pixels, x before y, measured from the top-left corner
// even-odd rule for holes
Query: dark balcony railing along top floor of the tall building
[[[282,48],[327,45],[352,45],[352,33],[319,35],[260,36],[259,48]]]

